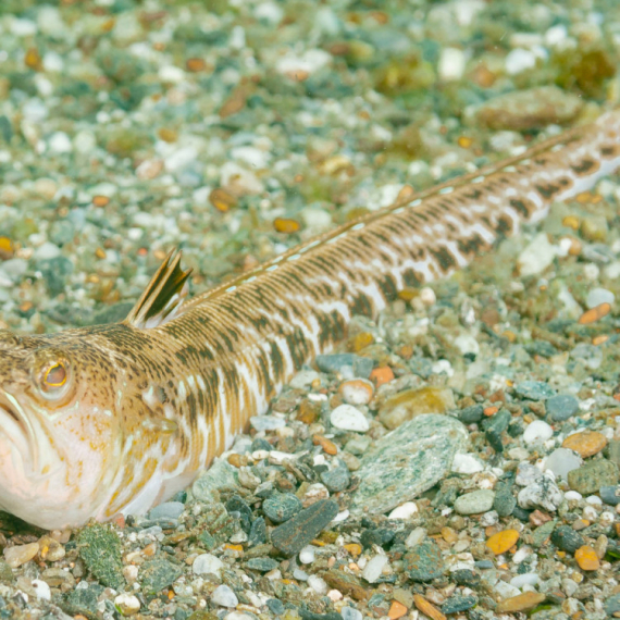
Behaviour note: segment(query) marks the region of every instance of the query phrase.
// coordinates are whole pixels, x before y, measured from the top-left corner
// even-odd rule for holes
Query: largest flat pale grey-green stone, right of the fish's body
[[[468,435],[461,422],[437,414],[419,416],[384,435],[361,458],[349,509],[377,514],[414,499],[448,474]]]

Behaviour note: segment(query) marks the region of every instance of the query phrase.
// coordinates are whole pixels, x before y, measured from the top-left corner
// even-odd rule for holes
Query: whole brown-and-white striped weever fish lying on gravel
[[[620,111],[345,224],[186,300],[171,255],[121,323],[0,331],[0,508],[46,529],[185,487],[355,313],[444,277],[620,166]]]

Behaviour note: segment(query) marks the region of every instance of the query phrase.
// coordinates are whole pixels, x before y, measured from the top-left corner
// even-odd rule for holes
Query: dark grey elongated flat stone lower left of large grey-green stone
[[[332,522],[338,510],[333,499],[320,499],[275,528],[271,533],[273,546],[287,556],[298,554]]]

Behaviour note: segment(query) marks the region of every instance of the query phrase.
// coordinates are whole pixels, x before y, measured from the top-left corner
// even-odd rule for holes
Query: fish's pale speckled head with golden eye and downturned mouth
[[[0,330],[0,509],[46,529],[95,516],[122,460],[113,356],[71,332]]]

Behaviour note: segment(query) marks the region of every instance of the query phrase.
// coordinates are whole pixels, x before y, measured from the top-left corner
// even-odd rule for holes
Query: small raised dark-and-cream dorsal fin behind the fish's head
[[[124,322],[148,330],[177,317],[190,273],[181,269],[181,251],[170,252]]]

